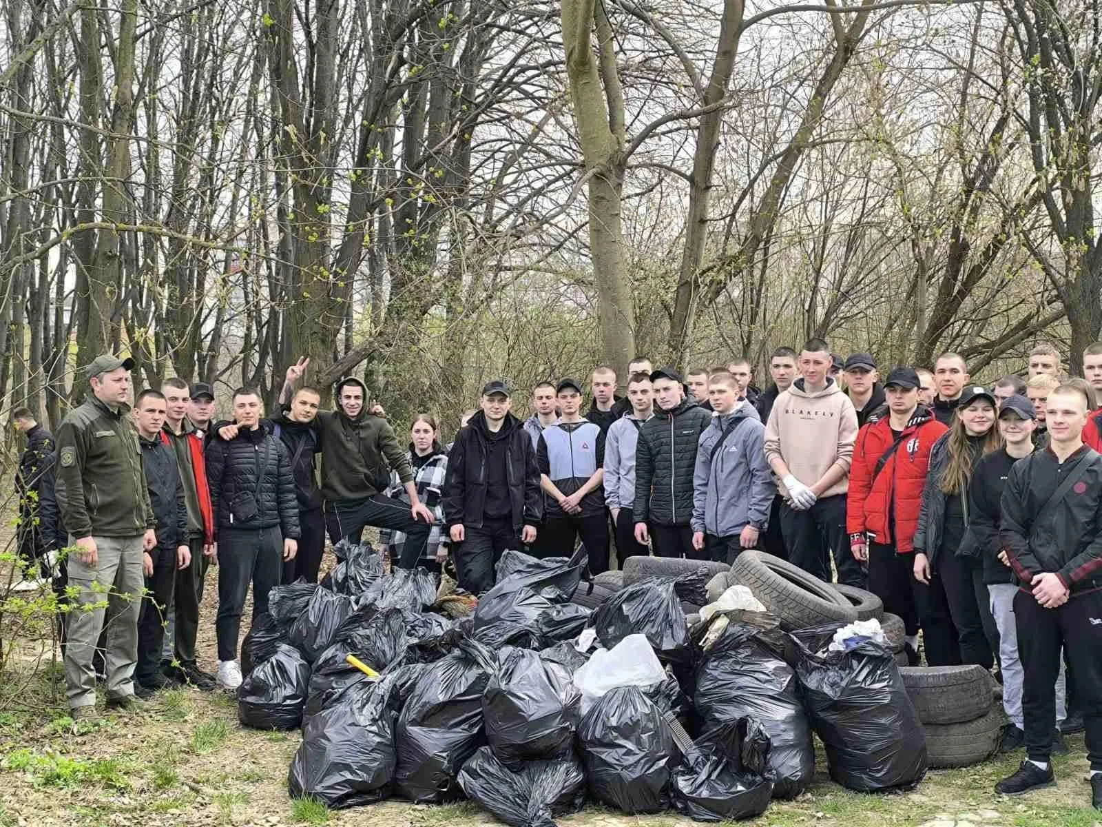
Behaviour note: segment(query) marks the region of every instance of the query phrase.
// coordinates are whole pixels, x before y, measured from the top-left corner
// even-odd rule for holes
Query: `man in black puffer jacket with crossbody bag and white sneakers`
[[[290,458],[281,441],[260,425],[263,405],[253,388],[234,394],[237,436],[214,434],[206,448],[207,483],[218,539],[217,680],[241,684],[237,637],[252,582],[252,616],[268,611],[268,593],[279,586],[284,560],[299,540],[299,503]]]

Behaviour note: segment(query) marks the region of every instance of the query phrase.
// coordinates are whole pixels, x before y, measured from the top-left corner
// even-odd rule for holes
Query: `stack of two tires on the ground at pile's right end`
[[[899,670],[926,730],[930,766],[971,766],[998,748],[1006,717],[982,666],[916,666]]]

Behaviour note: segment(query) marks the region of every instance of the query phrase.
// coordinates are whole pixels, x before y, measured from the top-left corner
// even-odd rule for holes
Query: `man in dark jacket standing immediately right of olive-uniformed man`
[[[138,620],[134,692],[139,697],[149,697],[170,683],[161,670],[165,620],[175,591],[176,572],[192,561],[180,465],[175,449],[162,431],[165,415],[164,394],[160,390],[143,390],[138,395],[134,423],[149,502],[156,518],[156,546],[144,554],[142,562],[147,594]]]

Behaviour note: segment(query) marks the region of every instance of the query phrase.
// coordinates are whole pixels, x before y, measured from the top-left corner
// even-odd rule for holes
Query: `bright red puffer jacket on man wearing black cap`
[[[873,415],[853,445],[845,518],[851,535],[868,533],[876,543],[894,543],[898,554],[915,550],[930,449],[947,430],[928,408],[919,406],[898,448],[876,474],[876,464],[892,448],[894,436],[887,412],[883,418]]]

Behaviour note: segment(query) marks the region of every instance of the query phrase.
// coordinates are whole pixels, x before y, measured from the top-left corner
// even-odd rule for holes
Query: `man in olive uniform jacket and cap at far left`
[[[68,583],[78,597],[68,615],[65,685],[74,720],[93,718],[91,658],[105,629],[107,705],[136,709],[138,612],[145,582],[142,555],[156,545],[138,432],[127,412],[133,359],[105,354],[87,367],[91,394],[57,431],[57,507],[75,550]],[[106,612],[104,603],[106,602]]]

